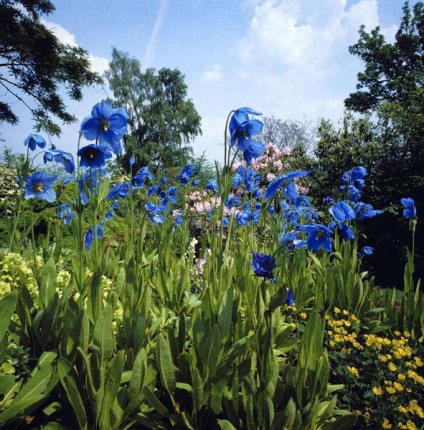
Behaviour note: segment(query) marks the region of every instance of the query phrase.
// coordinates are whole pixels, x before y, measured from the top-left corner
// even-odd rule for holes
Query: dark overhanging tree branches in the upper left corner
[[[9,101],[14,99],[31,111],[38,131],[59,135],[53,117],[76,121],[60,89],[81,100],[84,86],[101,82],[90,70],[87,52],[62,44],[40,21],[54,9],[49,0],[0,0],[0,88],[7,97],[0,101],[0,123],[19,122]]]

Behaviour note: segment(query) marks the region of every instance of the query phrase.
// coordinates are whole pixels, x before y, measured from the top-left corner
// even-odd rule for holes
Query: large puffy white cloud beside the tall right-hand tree
[[[380,25],[377,0],[255,0],[239,43],[240,76],[271,113],[337,116],[360,60],[348,53],[362,24]],[[385,29],[383,29],[384,31]]]

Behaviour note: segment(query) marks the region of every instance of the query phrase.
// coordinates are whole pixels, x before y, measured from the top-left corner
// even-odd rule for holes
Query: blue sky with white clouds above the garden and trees
[[[411,6],[416,1],[410,1]],[[250,106],[289,120],[337,123],[355,90],[359,59],[348,53],[364,24],[388,40],[399,27],[403,0],[56,0],[44,20],[64,42],[86,49],[93,68],[107,68],[112,46],[143,68],[178,68],[202,117],[195,154],[222,160],[229,111]],[[107,85],[69,102],[83,119],[107,96]],[[20,152],[33,124],[16,104],[19,126],[2,127],[5,144]],[[75,153],[79,124],[52,142]]]

